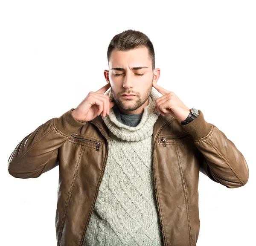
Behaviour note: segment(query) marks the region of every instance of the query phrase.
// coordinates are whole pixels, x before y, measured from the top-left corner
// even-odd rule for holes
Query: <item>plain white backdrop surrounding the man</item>
[[[13,1],[0,3],[1,245],[55,246],[58,167],[37,179],[8,171],[17,144],[107,82],[114,35],[151,39],[158,84],[225,133],[249,181],[230,189],[200,173],[197,246],[253,246],[256,148],[255,1]]]

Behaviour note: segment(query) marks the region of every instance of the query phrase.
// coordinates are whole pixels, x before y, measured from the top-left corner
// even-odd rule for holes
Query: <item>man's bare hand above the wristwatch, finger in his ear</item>
[[[172,115],[180,122],[184,121],[190,113],[190,109],[172,91],[166,90],[153,82],[153,87],[163,96],[156,99],[155,109],[163,116],[166,113]]]

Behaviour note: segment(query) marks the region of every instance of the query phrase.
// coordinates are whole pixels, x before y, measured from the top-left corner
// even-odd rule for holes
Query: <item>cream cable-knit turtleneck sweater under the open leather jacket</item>
[[[105,94],[113,101],[111,89]],[[102,117],[110,130],[108,158],[83,246],[163,245],[152,166],[157,98],[152,87],[143,113],[121,113],[115,105]]]

